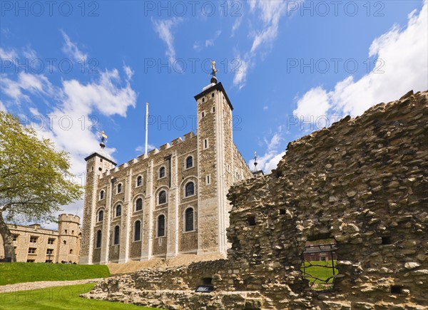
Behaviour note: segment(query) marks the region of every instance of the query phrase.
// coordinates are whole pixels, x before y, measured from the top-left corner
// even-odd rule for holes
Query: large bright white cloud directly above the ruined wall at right
[[[377,56],[378,65],[359,80],[349,76],[336,83],[334,90],[321,86],[310,89],[297,100],[294,115],[360,115],[381,102],[400,98],[409,90],[428,88],[428,2],[419,15],[412,11],[404,29],[393,26],[372,41],[369,56]],[[380,64],[382,68],[379,68]],[[380,71],[383,71],[380,72]]]

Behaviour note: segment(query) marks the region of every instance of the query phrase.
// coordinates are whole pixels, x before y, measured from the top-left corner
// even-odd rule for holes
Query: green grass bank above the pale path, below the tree
[[[106,265],[73,265],[46,263],[1,263],[0,285],[34,282],[105,278]]]

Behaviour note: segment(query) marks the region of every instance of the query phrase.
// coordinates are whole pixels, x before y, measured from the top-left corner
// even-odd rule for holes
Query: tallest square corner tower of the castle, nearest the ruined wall
[[[233,184],[232,110],[222,83],[218,83],[215,61],[213,76],[202,93],[195,95],[198,110],[198,254],[226,253],[229,225],[227,200]]]

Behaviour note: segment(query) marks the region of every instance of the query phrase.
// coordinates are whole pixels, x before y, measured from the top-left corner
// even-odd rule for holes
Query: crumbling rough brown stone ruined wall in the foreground
[[[107,279],[86,296],[167,309],[428,309],[427,133],[425,91],[300,138],[272,174],[231,188],[228,259]],[[313,291],[302,252],[327,238],[339,273]],[[206,278],[214,291],[194,293]]]

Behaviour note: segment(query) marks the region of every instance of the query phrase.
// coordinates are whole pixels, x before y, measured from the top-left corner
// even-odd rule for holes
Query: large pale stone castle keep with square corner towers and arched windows
[[[226,195],[253,174],[233,143],[233,106],[222,83],[213,77],[195,100],[198,135],[119,167],[103,143],[85,158],[82,264],[226,253]]]

